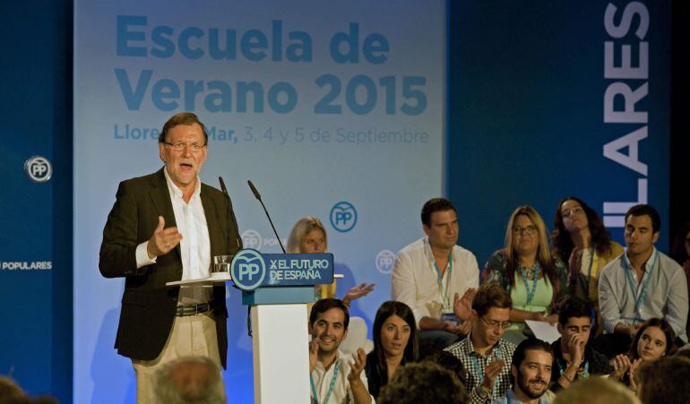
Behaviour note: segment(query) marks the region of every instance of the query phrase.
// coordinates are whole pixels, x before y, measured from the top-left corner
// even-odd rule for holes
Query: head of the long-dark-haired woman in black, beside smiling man
[[[418,357],[417,322],[410,306],[389,300],[376,312],[374,351],[383,365],[386,357],[402,355],[403,362]]]

